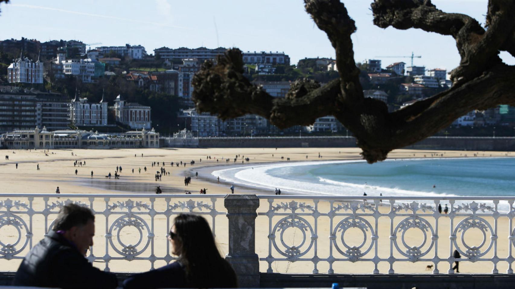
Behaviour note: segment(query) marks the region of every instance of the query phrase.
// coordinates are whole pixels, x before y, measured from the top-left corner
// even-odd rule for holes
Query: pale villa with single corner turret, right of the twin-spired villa
[[[114,101],[116,121],[136,129],[149,129],[151,127],[150,106],[139,103],[125,103],[122,95],[118,95]]]

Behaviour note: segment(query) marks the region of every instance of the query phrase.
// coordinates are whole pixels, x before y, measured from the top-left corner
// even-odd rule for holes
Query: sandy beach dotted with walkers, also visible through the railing
[[[0,161],[0,176],[2,177],[2,192],[3,193],[15,193],[20,194],[20,198],[26,198],[30,194],[35,193],[47,193],[54,194],[56,187],[59,186],[61,194],[148,194],[154,196],[157,185],[160,185],[163,190],[163,195],[184,195],[186,190],[191,191],[192,195],[184,195],[184,200],[188,200],[191,197],[199,196],[199,191],[202,188],[207,188],[207,195],[214,194],[230,194],[230,183],[225,183],[217,180],[214,176],[211,176],[210,172],[213,169],[220,169],[230,167],[234,165],[242,165],[242,157],[249,158],[249,164],[258,163],[272,163],[282,162],[290,158],[290,161],[328,161],[328,160],[359,160],[358,148],[161,148],[161,149],[111,149],[111,150],[83,150],[83,149],[61,149],[61,150],[50,150],[44,152],[42,150],[2,150],[4,155],[9,156],[9,160]],[[73,156],[72,156],[73,152]],[[318,158],[318,155],[322,158]],[[389,154],[389,158],[430,158],[432,156],[443,155],[444,158],[449,157],[472,157],[477,154],[478,157],[506,157],[513,156],[510,152],[484,152],[484,151],[436,151],[436,150],[396,150]],[[143,155],[143,156],[142,156]],[[240,157],[234,162],[236,155]],[[273,155],[273,157],[272,157]],[[306,159],[307,156],[307,159]],[[211,157],[210,159],[208,157]],[[281,159],[284,157],[284,160]],[[226,160],[229,158],[229,162]],[[195,165],[191,165],[190,162],[194,160]],[[85,162],[85,165],[74,166],[74,162]],[[186,163],[186,165],[179,165],[179,167],[170,166],[170,162]],[[153,162],[164,162],[168,175],[163,175],[161,181],[155,180],[156,171],[159,170],[162,165],[152,166]],[[243,161],[244,165],[247,162]],[[16,168],[16,163],[18,168]],[[37,169],[39,165],[40,169]],[[116,167],[122,167],[121,178],[119,180],[114,179],[114,172]],[[147,168],[145,171],[144,168]],[[140,172],[141,168],[141,172]],[[77,174],[75,170],[77,169]],[[134,171],[132,171],[132,169]],[[93,177],[91,177],[91,171],[93,171]],[[113,176],[111,179],[106,176],[111,172]],[[198,178],[195,176],[195,172],[199,173]],[[184,177],[191,176],[192,183],[187,187],[184,186]],[[284,191],[287,194],[287,191]],[[260,190],[252,187],[236,186],[235,194],[273,194],[269,190]],[[196,195],[196,196],[194,196]],[[359,195],[356,192],[356,195]],[[38,200],[38,199],[37,199]],[[57,199],[50,200],[56,201]],[[113,199],[115,200],[115,199]],[[0,200],[1,201],[1,200]],[[284,200],[282,200],[284,201]],[[40,203],[38,203],[40,202]],[[307,200],[309,202],[309,200]],[[41,200],[35,201],[36,206],[43,206]],[[222,206],[222,201],[218,201],[218,206]],[[268,209],[268,201],[262,200],[259,212],[266,212]],[[156,206],[165,207],[165,204],[158,204]],[[95,200],[94,208],[96,211],[101,211],[105,207],[103,200]],[[221,210],[221,209],[220,209]],[[389,206],[382,206],[380,208],[381,213],[388,213]],[[319,211],[329,211],[328,202],[319,203]],[[372,222],[373,218],[366,218]],[[486,218],[487,221],[492,219]],[[274,219],[275,220],[275,219]],[[329,256],[329,238],[330,228],[329,222],[324,222],[326,219],[320,219],[318,223],[318,257],[327,258]],[[400,219],[399,219],[400,220]],[[431,218],[428,218],[430,222],[434,222]],[[395,220],[398,222],[398,220]],[[36,243],[43,235],[43,223],[42,218],[36,218],[33,220],[33,243]],[[104,237],[104,225],[102,225],[102,219],[98,218],[97,222],[97,233],[94,239],[94,254],[95,256],[101,256],[102,248],[106,247],[106,238]],[[210,220],[211,222],[211,220]],[[454,222],[459,222],[459,219],[455,219]],[[493,224],[493,221],[491,222]],[[506,258],[508,256],[508,235],[510,232],[509,223],[507,218],[500,218],[497,226],[499,228],[497,240],[498,257]],[[156,230],[156,246],[155,254],[159,256],[166,255],[165,247],[165,232],[167,231],[167,224],[164,217],[156,217],[155,222],[156,228],[162,228]],[[390,255],[390,246],[388,237],[390,235],[390,220],[388,218],[380,218],[379,228],[377,235],[380,242],[378,247],[378,254],[381,258],[388,258]],[[440,258],[446,258],[449,256],[449,220],[443,216],[439,218],[439,230],[437,232],[439,236],[438,240],[438,252]],[[256,219],[256,251],[262,258],[268,255],[268,218],[266,216],[259,216]],[[349,235],[349,233],[351,233]],[[2,228],[0,230],[0,240],[4,243],[4,237],[12,237],[13,230],[10,228]],[[128,230],[124,231],[124,240],[131,242],[136,235],[136,232]],[[219,243],[220,251],[222,254],[227,253],[227,218],[223,215],[216,217],[216,239]],[[354,235],[356,236],[354,238]],[[359,230],[350,230],[346,234],[346,238],[350,236],[349,240],[346,239],[351,245],[358,245],[363,241],[363,234]],[[295,242],[295,234],[286,234],[286,239]],[[298,241],[297,236],[297,241]],[[408,244],[415,245],[420,243],[422,234],[414,233],[407,236]],[[480,243],[479,238],[483,238],[481,234],[467,233],[467,241],[472,245]],[[354,240],[355,239],[355,240]],[[370,240],[367,240],[370,241]],[[410,243],[412,241],[412,243]],[[487,242],[490,242],[488,239]],[[418,244],[417,244],[418,245]],[[98,250],[98,251],[97,251]],[[372,251],[373,252],[373,251]],[[493,251],[491,251],[493,252]],[[24,253],[22,252],[24,255]],[[333,253],[335,256],[337,253]],[[394,256],[400,256],[400,254],[393,254]],[[279,255],[274,255],[279,256]],[[341,255],[340,255],[341,256]],[[492,257],[492,254],[486,255]],[[313,254],[306,255],[303,258],[312,258]],[[365,258],[372,258],[373,254],[369,253]],[[426,256],[427,258],[433,258],[434,254],[430,253]],[[20,260],[0,260],[0,269],[3,271],[15,271],[18,267]],[[101,262],[95,262],[95,266],[104,268],[104,264]],[[163,265],[164,261],[157,261],[156,266]],[[432,264],[431,262],[397,262],[394,265],[396,273],[431,273],[432,271],[426,271],[426,265]],[[462,273],[490,273],[492,269],[491,262],[461,262],[460,272]],[[130,263],[126,260],[112,261],[110,263],[111,271],[115,272],[141,272],[146,271],[149,268],[148,261],[131,261]],[[265,261],[260,262],[260,270],[266,272],[268,264]],[[333,265],[335,273],[371,273],[373,269],[373,263],[371,262],[335,262]],[[380,273],[387,273],[389,265],[387,262],[381,262],[379,264]],[[274,272],[280,273],[311,273],[313,270],[313,263],[306,261],[298,262],[274,262],[272,264]],[[318,264],[320,273],[327,273],[328,263],[320,262]],[[448,263],[440,263],[440,273],[447,273],[449,269]],[[498,266],[500,273],[505,273],[507,265],[504,262],[500,262]]]

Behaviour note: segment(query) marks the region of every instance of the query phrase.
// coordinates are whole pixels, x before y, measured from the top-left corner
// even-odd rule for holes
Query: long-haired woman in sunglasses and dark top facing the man
[[[131,288],[235,288],[236,274],[220,256],[211,228],[201,216],[180,214],[168,235],[177,262],[135,274],[124,281]]]

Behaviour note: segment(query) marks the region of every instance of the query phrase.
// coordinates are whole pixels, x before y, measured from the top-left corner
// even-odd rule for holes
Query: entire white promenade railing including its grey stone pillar
[[[227,245],[227,258],[238,266],[237,274],[249,283],[259,278],[260,261],[261,271],[267,273],[278,272],[277,264],[299,262],[310,264],[313,274],[341,274],[347,273],[340,269],[345,268],[339,266],[342,262],[363,262],[372,274],[394,274],[398,264],[424,262],[434,265],[434,274],[453,274],[453,263],[465,261],[484,262],[485,274],[497,274],[499,267],[512,274],[514,201],[515,197],[0,194],[0,261],[22,259],[52,229],[59,209],[73,202],[94,211],[96,234],[104,238],[95,239],[87,259],[105,262],[107,271],[134,271],[129,262],[156,268],[175,260],[168,230],[175,215],[192,213],[208,220],[218,241]],[[444,210],[445,204],[448,213],[440,213],[438,205]],[[454,257],[454,250],[460,258]]]

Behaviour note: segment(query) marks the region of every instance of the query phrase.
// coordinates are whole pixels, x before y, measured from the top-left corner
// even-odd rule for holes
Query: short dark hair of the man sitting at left
[[[74,226],[84,226],[89,220],[95,221],[95,215],[89,208],[70,203],[61,208],[52,229],[68,230]]]

